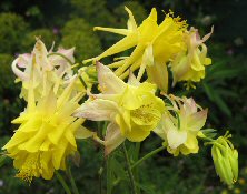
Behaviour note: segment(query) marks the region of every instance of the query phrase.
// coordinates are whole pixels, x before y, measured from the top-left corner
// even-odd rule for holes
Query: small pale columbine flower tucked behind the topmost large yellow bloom
[[[205,78],[205,65],[211,64],[211,59],[207,58],[207,47],[204,42],[211,33],[213,29],[200,39],[197,29],[191,28],[190,31],[186,31],[184,35],[187,49],[170,62],[174,85],[178,81],[199,82]]]

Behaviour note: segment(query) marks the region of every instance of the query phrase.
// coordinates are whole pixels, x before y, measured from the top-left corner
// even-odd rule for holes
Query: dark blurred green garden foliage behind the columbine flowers
[[[201,35],[215,27],[206,42],[213,64],[206,79],[195,90],[184,92],[209,109],[207,126],[224,135],[233,133],[239,151],[239,180],[233,187],[219,182],[215,173],[210,149],[202,146],[199,154],[174,157],[165,152],[140,165],[138,187],[144,194],[246,194],[247,193],[247,1],[246,0],[1,0],[0,1],[0,146],[12,135],[12,119],[23,111],[19,99],[20,85],[14,83],[11,62],[20,53],[31,52],[41,40],[49,49],[76,47],[77,62],[95,57],[121,37],[93,32],[93,25],[126,28],[130,8],[138,23],[152,7],[159,21],[169,9],[199,29]],[[107,62],[107,61],[106,61]],[[181,84],[182,85],[182,84]],[[181,85],[170,89],[180,92]],[[180,92],[181,94],[181,92]],[[155,135],[154,135],[155,136]],[[144,155],[160,145],[154,136],[141,144]],[[79,191],[99,193],[98,170],[102,151],[91,141],[79,142],[80,167],[72,167]],[[131,151],[131,145],[129,145]],[[118,166],[116,166],[117,169]],[[12,161],[0,163],[0,194],[62,194],[55,177],[36,178],[31,185],[14,177]],[[63,173],[65,174],[65,173]],[[66,174],[65,174],[66,175]],[[105,182],[103,182],[105,184]],[[116,184],[113,194],[129,194],[128,181]]]

